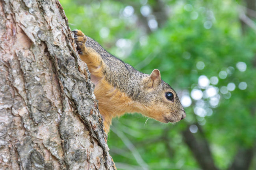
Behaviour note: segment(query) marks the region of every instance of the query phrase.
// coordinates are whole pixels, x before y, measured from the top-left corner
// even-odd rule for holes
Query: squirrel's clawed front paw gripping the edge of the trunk
[[[85,55],[85,41],[86,41],[86,37],[85,35],[82,33],[82,31],[76,29],[74,31],[72,31],[72,33],[74,33],[74,38],[76,41],[76,49],[78,54],[80,55]]]

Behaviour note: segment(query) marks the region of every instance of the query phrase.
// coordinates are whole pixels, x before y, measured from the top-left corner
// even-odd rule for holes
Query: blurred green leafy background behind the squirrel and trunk
[[[113,121],[119,170],[256,169],[255,0],[60,0],[80,29],[135,69],[155,68],[187,117]]]

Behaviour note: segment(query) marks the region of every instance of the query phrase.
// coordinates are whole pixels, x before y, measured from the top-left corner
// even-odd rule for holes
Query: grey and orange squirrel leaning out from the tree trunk
[[[158,69],[150,75],[141,73],[82,31],[72,32],[79,57],[87,64],[95,84],[94,94],[106,133],[112,118],[124,113],[141,113],[164,123],[186,117],[176,92],[161,79]]]

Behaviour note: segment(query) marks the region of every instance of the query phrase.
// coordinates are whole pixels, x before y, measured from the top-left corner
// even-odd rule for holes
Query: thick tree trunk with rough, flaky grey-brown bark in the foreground
[[[0,0],[0,169],[115,169],[58,0]]]

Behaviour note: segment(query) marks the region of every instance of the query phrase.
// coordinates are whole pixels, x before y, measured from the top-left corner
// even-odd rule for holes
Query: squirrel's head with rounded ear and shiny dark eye
[[[144,106],[141,113],[157,121],[178,122],[186,117],[186,113],[176,92],[161,79],[160,71],[154,69],[143,79],[141,101]]]

